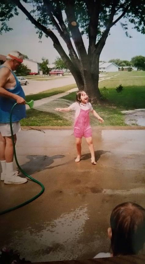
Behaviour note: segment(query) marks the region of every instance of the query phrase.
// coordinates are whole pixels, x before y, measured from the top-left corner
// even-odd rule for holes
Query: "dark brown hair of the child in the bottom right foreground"
[[[113,256],[137,254],[145,242],[145,209],[133,202],[117,205],[110,216]]]

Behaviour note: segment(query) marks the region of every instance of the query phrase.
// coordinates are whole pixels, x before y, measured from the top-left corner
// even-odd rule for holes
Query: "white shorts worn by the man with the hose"
[[[13,135],[15,135],[17,132],[21,130],[20,128],[20,122],[13,122],[12,123],[13,128]],[[11,129],[9,123],[0,123],[0,133],[2,136],[11,136]]]

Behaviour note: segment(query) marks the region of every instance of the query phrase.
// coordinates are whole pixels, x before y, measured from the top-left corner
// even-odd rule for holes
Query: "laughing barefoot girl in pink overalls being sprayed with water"
[[[78,154],[75,161],[80,161],[81,143],[82,137],[84,136],[91,152],[91,163],[96,164],[89,112],[93,113],[93,115],[99,120],[99,122],[103,123],[104,121],[93,109],[91,103],[88,102],[87,94],[83,90],[80,90],[76,93],[75,103],[73,103],[69,107],[56,108],[55,110],[60,112],[69,112],[71,110],[75,110],[74,136],[76,138],[76,149]]]

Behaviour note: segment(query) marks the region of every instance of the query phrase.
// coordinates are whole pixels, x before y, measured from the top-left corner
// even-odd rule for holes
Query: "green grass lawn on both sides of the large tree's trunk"
[[[108,99],[108,103],[101,105],[93,105],[93,108],[104,119],[104,124],[100,124],[95,121],[95,117],[91,118],[92,125],[101,126],[125,126],[124,114],[121,110],[145,108],[145,72],[144,71],[120,71],[117,73],[105,73],[104,77],[110,77],[119,74],[110,79],[99,82],[100,92]],[[122,85],[124,90],[122,93],[116,92],[116,87]],[[103,87],[107,90],[103,92]],[[75,88],[76,85],[72,85],[71,88]],[[63,92],[63,89],[69,90],[70,86],[60,87],[44,91],[43,93],[33,94],[26,96],[26,101],[31,99],[38,100],[44,97],[48,97],[54,94]],[[56,91],[54,91],[56,90]],[[63,91],[62,91],[63,90]],[[35,96],[35,98],[34,98]],[[64,98],[67,100],[75,101],[76,92],[68,94]],[[27,119],[21,121],[21,125],[38,125],[38,126],[65,126],[72,125],[72,120],[65,120],[65,115],[57,115],[47,112],[41,112],[35,109],[27,110]]]

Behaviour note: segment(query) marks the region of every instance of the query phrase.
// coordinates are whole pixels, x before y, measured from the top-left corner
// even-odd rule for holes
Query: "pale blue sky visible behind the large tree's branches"
[[[29,59],[42,61],[42,57],[49,59],[49,63],[53,63],[56,56],[60,56],[53,47],[53,42],[50,38],[42,37],[39,42],[38,34],[34,25],[26,20],[26,16],[19,11],[19,16],[12,18],[9,21],[9,26],[12,31],[0,35],[0,54],[7,55],[12,50],[28,56]],[[56,30],[54,30],[59,38]],[[131,60],[136,55],[145,56],[145,36],[132,29],[130,25],[129,34],[132,38],[125,35],[119,22],[110,30],[110,36],[106,40],[106,44],[100,55],[100,60],[108,61],[110,59],[119,58],[121,60]],[[59,38],[61,45],[67,52],[66,44]],[[84,44],[87,49],[88,40],[83,36]]]

